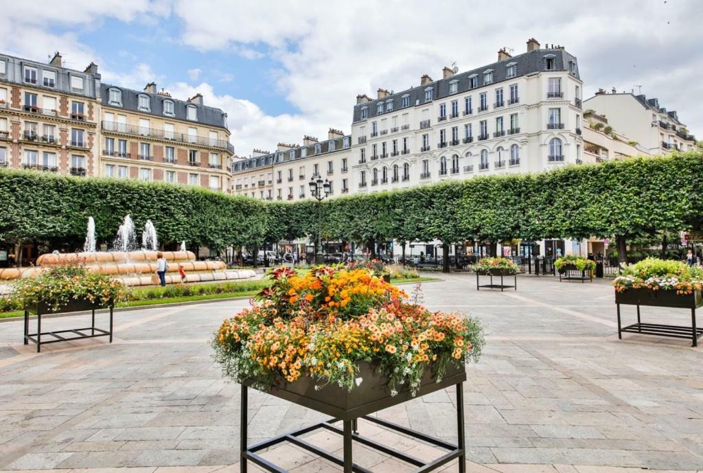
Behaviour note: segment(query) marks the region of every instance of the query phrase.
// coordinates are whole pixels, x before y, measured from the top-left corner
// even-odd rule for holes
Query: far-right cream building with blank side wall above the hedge
[[[636,141],[652,155],[696,147],[695,136],[679,121],[676,111],[659,106],[656,98],[617,93],[614,89],[606,93],[600,89],[584,106],[606,117],[613,129]]]

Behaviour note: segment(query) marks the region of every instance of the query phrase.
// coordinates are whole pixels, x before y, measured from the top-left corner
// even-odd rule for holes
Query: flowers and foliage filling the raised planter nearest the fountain
[[[127,299],[127,288],[121,281],[93,273],[85,266],[57,266],[36,278],[18,280],[12,297],[22,307],[44,302],[52,311],[58,311],[80,299],[105,307]]]

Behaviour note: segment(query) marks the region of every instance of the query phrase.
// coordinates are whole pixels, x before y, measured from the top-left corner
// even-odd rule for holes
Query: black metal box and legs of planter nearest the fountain
[[[25,345],[32,342],[37,345],[37,353],[41,351],[41,345],[57,342],[70,342],[71,340],[79,340],[84,338],[94,337],[110,337],[112,343],[112,309],[114,304],[108,305],[110,309],[110,330],[103,330],[95,326],[95,311],[101,307],[88,299],[71,299],[65,306],[60,309],[51,309],[49,304],[44,301],[39,301],[38,304],[25,307]],[[86,328],[74,328],[67,330],[53,330],[52,332],[41,331],[41,316],[51,315],[56,313],[70,313],[91,311],[91,326]],[[30,313],[37,315],[37,332],[30,333]],[[44,339],[42,339],[44,337]],[[47,339],[46,337],[51,337]]]

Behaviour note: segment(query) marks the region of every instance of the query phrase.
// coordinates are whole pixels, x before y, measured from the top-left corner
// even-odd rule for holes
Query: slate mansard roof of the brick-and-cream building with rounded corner
[[[122,91],[122,107],[110,104],[109,89],[120,89],[120,91]],[[149,97],[150,112],[138,109],[138,96],[140,95]],[[195,105],[195,107],[198,108],[198,120],[196,123],[208,125],[210,127],[227,128],[227,122],[225,120],[226,113],[221,109],[181,101],[177,98],[163,96],[158,93],[146,93],[145,91],[125,89],[124,87],[115,86],[112,84],[101,84],[101,101],[105,107],[123,108],[124,110],[130,110],[131,112],[146,113],[148,115],[154,115],[155,117],[161,118],[174,118],[186,122],[193,122],[193,120],[188,120],[186,118],[186,105]],[[164,101],[172,101],[174,103],[175,117],[164,115]]]

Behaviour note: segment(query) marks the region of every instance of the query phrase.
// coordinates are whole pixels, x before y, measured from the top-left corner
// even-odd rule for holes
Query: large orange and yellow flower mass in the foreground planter
[[[425,370],[440,380],[449,363],[463,366],[481,354],[478,320],[411,304],[368,269],[278,268],[271,280],[214,338],[214,358],[233,380],[265,390],[311,377],[316,389],[336,384],[352,391],[363,382],[359,363],[366,361],[392,394],[401,386],[415,394]]]

